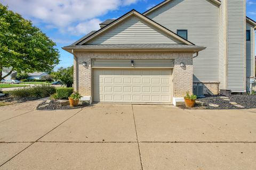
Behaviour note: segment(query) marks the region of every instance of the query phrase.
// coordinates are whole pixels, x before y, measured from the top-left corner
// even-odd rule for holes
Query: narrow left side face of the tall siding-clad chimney
[[[225,89],[225,4],[222,3],[219,8],[219,81],[220,89]]]

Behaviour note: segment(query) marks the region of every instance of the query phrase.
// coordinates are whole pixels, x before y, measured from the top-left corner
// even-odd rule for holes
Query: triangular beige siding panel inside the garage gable
[[[177,44],[170,36],[131,16],[87,44]]]

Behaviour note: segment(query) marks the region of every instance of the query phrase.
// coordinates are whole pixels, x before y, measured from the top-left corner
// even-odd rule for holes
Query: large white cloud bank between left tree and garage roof
[[[140,0],[0,0],[14,12],[46,28],[75,35],[99,29],[99,16]],[[97,25],[97,27],[96,27]]]

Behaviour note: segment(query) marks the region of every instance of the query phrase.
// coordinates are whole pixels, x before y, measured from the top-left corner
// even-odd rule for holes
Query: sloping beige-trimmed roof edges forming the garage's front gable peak
[[[142,19],[143,21],[149,23],[150,25],[152,25],[154,28],[157,28],[161,31],[163,31],[164,33],[166,33],[166,35],[171,36],[172,38],[174,38],[175,40],[180,41],[182,44],[186,44],[186,45],[194,45],[193,43],[191,43],[190,41],[178,36],[176,33],[172,32],[171,30],[163,27],[162,25],[158,24],[157,22],[147,18],[146,16],[142,15],[141,13],[139,13],[136,10],[132,10],[126,14],[124,14],[123,16],[121,16],[120,18],[116,19],[115,21],[109,23],[108,25],[106,25],[106,27],[101,28],[100,30],[92,33],[92,35],[90,36],[85,36],[83,38],[81,38],[80,40],[76,41],[76,43],[74,43],[73,45],[84,45],[86,44],[88,41],[92,40],[95,37],[98,37],[99,35],[101,35],[101,33],[113,28],[115,25],[119,24],[120,22],[124,21],[125,19],[129,18],[130,16],[137,16],[138,18]]]

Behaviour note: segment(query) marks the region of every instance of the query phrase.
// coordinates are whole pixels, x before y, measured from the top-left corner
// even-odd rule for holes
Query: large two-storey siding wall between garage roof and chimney
[[[173,0],[148,13],[150,19],[177,32],[188,30],[188,40],[204,46],[194,61],[194,81],[219,81],[219,7],[207,0]]]

